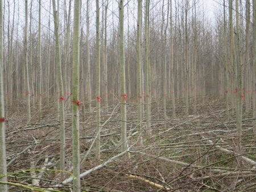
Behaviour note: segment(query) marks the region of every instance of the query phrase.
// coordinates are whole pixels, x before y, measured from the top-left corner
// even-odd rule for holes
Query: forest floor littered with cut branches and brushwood
[[[15,103],[15,102],[13,102]],[[103,105],[103,103],[102,103]],[[162,104],[160,103],[159,106]],[[242,154],[236,153],[236,115],[219,99],[198,101],[197,114],[184,115],[184,103],[176,101],[177,117],[171,117],[171,101],[167,106],[167,128],[163,108],[152,103],[152,135],[143,122],[143,145],[138,146],[136,105],[127,104],[127,136],[129,153],[121,156],[119,106],[102,107],[101,161],[90,149],[96,135],[96,118],[80,108],[80,152],[82,191],[256,191],[256,148],[251,111],[243,110]],[[192,108],[191,108],[192,110]],[[38,119],[27,123],[26,106],[22,103],[6,107],[6,149],[8,180],[17,186],[10,191],[71,191],[72,182],[61,185],[72,176],[72,120],[66,110],[66,165],[59,166],[59,123],[56,101],[43,108]],[[100,165],[100,166],[98,166]],[[88,171],[88,172],[86,172]],[[65,178],[63,178],[65,177]],[[33,185],[32,185],[33,182]],[[24,189],[24,186],[28,186]],[[55,188],[53,188],[55,186]]]

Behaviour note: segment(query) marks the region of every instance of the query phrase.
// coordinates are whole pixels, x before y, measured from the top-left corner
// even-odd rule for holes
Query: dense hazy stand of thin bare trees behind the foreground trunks
[[[55,65],[55,52],[53,35],[52,11],[46,12],[48,6],[52,2],[43,2],[42,11],[44,21],[39,22],[39,6],[38,3],[32,1],[27,7],[27,15],[30,18],[21,18],[19,15],[15,16],[14,12],[22,12],[22,5],[20,2],[10,2],[4,6],[5,30],[4,30],[4,66],[5,71],[4,81],[5,93],[8,95],[8,102],[12,102],[15,98],[26,96],[27,100],[33,100],[33,105],[36,101],[42,103],[42,98],[51,98],[56,96],[57,92],[61,92],[61,87],[57,86],[59,80],[56,81],[56,72],[59,65]],[[225,91],[236,90],[236,85],[231,81],[229,89],[225,87],[225,69],[233,76],[234,70],[232,66],[225,66],[226,60],[230,60],[229,49],[230,41],[233,39],[229,34],[232,33],[230,29],[230,22],[227,20],[228,15],[233,15],[227,7],[225,2],[219,2],[225,7],[225,15],[223,11],[217,13],[216,19],[209,21],[205,12],[207,10],[201,9],[201,2],[197,1],[151,1],[146,6],[146,1],[143,2],[143,15],[141,16],[141,30],[142,35],[142,51],[141,60],[142,65],[137,65],[138,54],[136,54],[135,40],[138,37],[135,27],[137,24],[136,16],[139,14],[136,10],[131,10],[135,6],[134,2],[129,2],[125,6],[125,50],[126,50],[126,90],[127,98],[141,97],[142,93],[146,92],[146,87],[150,90],[153,98],[164,100],[166,98],[179,98],[186,96],[185,102],[194,103],[193,111],[196,108],[196,95],[225,95]],[[92,8],[94,3],[82,2],[81,4],[81,29],[80,29],[80,60],[81,60],[81,76],[80,76],[80,95],[81,100],[86,103],[91,103],[95,97],[101,97],[105,106],[108,102],[114,102],[115,96],[120,95],[121,78],[119,74],[119,56],[118,56],[118,31],[116,21],[118,16],[114,2],[102,1],[100,2],[101,12],[98,14],[100,26],[98,28],[98,38],[100,38],[100,65],[101,76],[96,77],[98,67],[96,67],[96,28],[93,26]],[[252,38],[253,27],[251,25],[251,7],[249,2],[249,12],[246,11],[246,6],[241,4],[238,19],[241,29],[241,53],[242,61],[246,62],[243,65],[243,78],[246,78],[245,91],[253,91],[254,85],[250,72],[253,67],[253,60],[251,58],[253,52],[250,49],[253,46]],[[60,35],[60,61],[61,73],[63,78],[63,93],[65,96],[69,95],[71,91],[71,74],[72,74],[72,19],[71,19],[71,2],[64,1],[58,4],[59,10],[59,35]],[[21,7],[21,8],[20,8]],[[151,8],[146,8],[151,7]],[[152,9],[154,7],[154,9]],[[221,7],[221,6],[219,6]],[[24,7],[26,10],[26,7]],[[233,8],[232,8],[233,9]],[[110,12],[109,10],[112,10]],[[221,8],[220,8],[221,10]],[[148,14],[146,14],[146,11]],[[230,12],[230,13],[229,13]],[[244,13],[245,12],[245,13]],[[12,15],[13,14],[13,15]],[[25,14],[26,15],[26,14]],[[147,15],[150,15],[147,19]],[[247,16],[246,16],[247,15]],[[249,16],[248,16],[249,15]],[[139,16],[139,15],[138,15]],[[249,20],[246,19],[249,17]],[[48,18],[48,22],[46,22]],[[232,16],[234,23],[234,18]],[[24,20],[22,25],[20,20]],[[248,22],[246,22],[246,20]],[[210,24],[214,23],[214,24]],[[39,26],[42,26],[39,28]],[[86,30],[85,30],[86,28]],[[20,34],[20,31],[27,30],[26,36]],[[234,31],[236,32],[236,31]],[[148,34],[148,36],[147,36]],[[225,35],[226,34],[226,35]],[[20,38],[22,37],[23,38]],[[39,38],[39,36],[41,38]],[[136,37],[137,36],[137,37]],[[234,34],[233,34],[234,36]],[[226,37],[226,40],[224,40]],[[148,40],[146,40],[148,39]],[[27,42],[27,44],[24,44]],[[148,43],[147,43],[148,42]],[[224,46],[226,42],[226,48]],[[249,43],[246,43],[249,42]],[[244,46],[243,46],[244,44]],[[150,46],[151,45],[151,46]],[[27,47],[27,48],[26,48]],[[158,47],[158,49],[154,49]],[[24,52],[23,50],[27,50]],[[147,54],[146,54],[147,52]],[[234,51],[233,51],[234,52]],[[149,55],[146,57],[146,55]],[[27,62],[22,62],[27,58]],[[137,58],[137,59],[136,59]],[[250,62],[247,62],[250,61]],[[27,63],[26,67],[24,63]],[[148,67],[147,67],[148,66]],[[141,68],[138,70],[137,68]],[[25,70],[26,69],[26,70]],[[141,72],[141,94],[138,93],[137,86],[139,77],[134,71]],[[166,72],[166,73],[163,73]],[[26,76],[26,74],[30,74]],[[227,73],[226,73],[227,74]],[[27,78],[24,78],[24,77]],[[47,77],[47,78],[44,78]],[[234,77],[234,76],[233,76]],[[100,78],[101,94],[96,94],[98,81]],[[26,80],[26,81],[25,81]],[[150,87],[149,87],[150,86]],[[228,93],[228,94],[229,94]],[[149,93],[145,94],[148,95]],[[93,97],[92,97],[93,95]],[[250,106],[251,93],[245,93],[247,100],[247,110]],[[31,97],[32,96],[32,97]],[[229,95],[229,97],[231,97]],[[120,96],[118,99],[121,99]],[[174,99],[173,99],[174,100]],[[234,100],[234,99],[233,99]],[[230,101],[233,101],[230,100]],[[232,102],[234,106],[234,102]],[[88,105],[90,108],[90,105]],[[29,107],[30,108],[30,107]],[[234,107],[233,107],[234,108]],[[40,106],[39,106],[40,109]],[[188,114],[188,108],[186,108]],[[175,113],[174,113],[175,115]]]

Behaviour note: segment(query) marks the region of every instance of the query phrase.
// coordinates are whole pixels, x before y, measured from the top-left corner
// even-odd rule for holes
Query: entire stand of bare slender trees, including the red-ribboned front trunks
[[[72,1],[7,1],[3,5],[5,30],[0,63],[1,71],[5,72],[0,84],[5,89],[1,91],[2,116],[3,93],[9,104],[26,99],[28,122],[32,120],[31,104],[39,111],[40,119],[43,101],[57,99],[60,169],[65,170],[64,101],[69,99],[73,114],[74,191],[80,188],[79,106],[90,111],[94,104],[97,109],[95,145],[96,159],[100,160],[102,106],[120,102],[121,151],[126,152],[126,102],[137,100],[138,132],[146,120],[151,134],[152,101],[157,103],[158,110],[163,106],[166,122],[170,114],[168,99],[175,118],[175,99],[184,98],[184,113],[189,115],[196,113],[198,97],[225,96],[227,116],[230,107],[237,109],[237,146],[241,153],[243,101],[246,111],[253,109],[256,116],[256,5],[255,0],[219,3],[220,11],[211,25],[205,16],[207,10],[201,9],[201,2],[196,0],[120,0],[118,4],[97,0],[95,5],[89,0],[76,0],[73,7]],[[22,14],[14,14],[23,11],[21,5],[24,18]],[[133,6],[137,7],[134,11]],[[96,15],[90,11],[94,7]],[[48,18],[47,22],[42,22],[42,15]],[[5,146],[4,124],[0,122],[2,146]],[[142,141],[139,137],[138,145],[143,145]],[[3,160],[4,156],[3,147]],[[3,164],[1,174],[5,173]]]

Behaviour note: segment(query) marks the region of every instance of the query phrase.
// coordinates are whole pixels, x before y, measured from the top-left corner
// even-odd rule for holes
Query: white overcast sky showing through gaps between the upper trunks
[[[191,1],[191,2],[190,2]],[[197,12],[204,12],[204,15],[206,18],[208,18],[210,21],[214,20],[214,14],[217,10],[220,9],[221,4],[218,3],[219,0],[197,0]],[[52,7],[49,6],[49,0],[42,0],[42,30],[46,30],[48,28],[48,18],[49,18],[49,11],[51,11],[51,17],[52,17]],[[68,1],[66,1],[68,3]],[[126,4],[125,7],[125,19],[127,20],[127,17],[129,16],[129,23],[130,23],[130,28],[134,27],[134,24],[136,23],[135,20],[137,18],[137,0],[131,0],[127,1],[128,3]],[[166,6],[167,6],[167,0]],[[173,1],[173,6],[174,6]],[[177,3],[182,3],[183,0],[177,0]],[[190,3],[192,3],[192,0],[189,0]],[[64,12],[63,12],[63,3],[64,1],[60,1],[60,23],[63,22],[64,20]],[[95,23],[95,2],[91,1],[91,9],[90,9],[90,23],[92,25],[91,30],[94,30],[94,23]],[[151,9],[159,10],[159,8],[162,6],[163,0],[151,0]],[[100,8],[102,8],[102,1],[100,1]],[[29,7],[29,16],[30,16],[30,5],[31,1],[28,1],[28,7]],[[154,5],[154,7],[152,7]],[[5,1],[5,5],[3,5],[3,9],[5,10],[4,14],[4,19],[5,19],[5,25],[7,25],[8,22],[8,6],[10,6],[10,20],[13,20],[13,9],[15,6],[15,22],[19,23],[19,27],[21,27],[20,32],[22,32],[22,28],[24,26],[24,1],[18,1],[18,0],[9,0]],[[143,5],[144,6],[144,2]],[[71,7],[73,10],[73,1],[71,2]],[[218,7],[218,9],[216,9]],[[68,8],[68,5],[67,5]],[[173,8],[174,9],[174,8]],[[85,10],[86,10],[86,1],[82,1],[82,7],[81,7],[81,12],[82,12],[82,26],[85,26]],[[153,11],[153,12],[154,12]],[[18,16],[19,15],[19,16]],[[71,13],[73,15],[73,13]],[[34,26],[37,26],[38,24],[38,1],[32,1],[32,19],[33,22],[32,24]],[[111,24],[114,24],[115,27],[117,27],[118,22],[113,22],[113,20],[117,21],[118,19],[118,3],[117,1],[110,0],[109,1],[109,11],[108,11],[108,22]],[[73,20],[73,19],[72,19]],[[51,25],[50,28],[53,30],[53,19],[51,19]],[[127,23],[127,22],[125,22]],[[113,27],[110,27],[113,28]],[[35,29],[34,29],[35,30]],[[36,32],[36,31],[35,31]],[[20,37],[22,37],[22,34],[20,34]]]

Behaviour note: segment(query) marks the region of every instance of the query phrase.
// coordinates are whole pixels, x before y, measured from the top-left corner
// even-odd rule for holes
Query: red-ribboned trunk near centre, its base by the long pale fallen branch
[[[121,79],[121,151],[127,150],[126,136],[126,83],[125,83],[125,46],[123,44],[123,0],[119,0],[119,59],[120,59],[120,79]]]

